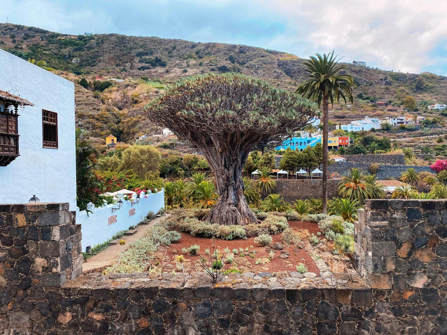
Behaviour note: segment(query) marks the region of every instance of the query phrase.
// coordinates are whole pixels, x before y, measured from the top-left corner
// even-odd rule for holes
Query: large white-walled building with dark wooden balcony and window
[[[0,203],[36,195],[75,210],[74,84],[4,50],[0,73]]]

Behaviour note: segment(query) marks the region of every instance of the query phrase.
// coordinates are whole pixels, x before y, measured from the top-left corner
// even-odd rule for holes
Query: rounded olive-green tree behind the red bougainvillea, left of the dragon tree
[[[122,151],[122,171],[132,171],[141,178],[156,179],[159,176],[160,152],[153,146],[133,145]]]

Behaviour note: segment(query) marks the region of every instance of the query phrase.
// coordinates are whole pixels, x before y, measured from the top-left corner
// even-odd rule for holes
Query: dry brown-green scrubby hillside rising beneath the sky
[[[75,83],[82,77],[94,80],[94,75],[103,75],[105,79],[126,79],[116,84],[107,99],[95,97],[91,90],[76,84],[76,113],[80,125],[93,125],[97,136],[110,131],[120,136],[122,121],[136,117],[130,122],[135,125],[127,125],[132,131],[123,137],[125,141],[132,141],[138,133],[150,127],[146,121],[143,122],[141,107],[160,93],[157,85],[149,85],[147,90],[143,87],[137,89],[141,82],[135,82],[135,79],[141,76],[166,84],[188,75],[236,71],[266,80],[279,88],[293,90],[304,75],[303,59],[293,54],[234,44],[118,34],[72,36],[35,27],[0,24],[0,47],[23,59],[45,60],[49,66],[62,71],[58,72],[59,75]],[[353,75],[358,84],[354,93],[363,93],[373,101],[390,100],[399,104],[408,95],[414,96],[422,107],[447,101],[445,76],[396,73],[351,63],[346,65],[346,73]],[[128,94],[135,89],[144,91],[137,100]],[[365,103],[365,100],[360,102]],[[361,109],[361,104],[357,105]],[[98,117],[101,113],[102,117]]]

